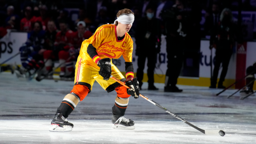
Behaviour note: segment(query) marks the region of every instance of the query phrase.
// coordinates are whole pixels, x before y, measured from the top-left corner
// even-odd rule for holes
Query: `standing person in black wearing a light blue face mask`
[[[146,17],[143,17],[136,28],[136,55],[138,56],[137,77],[142,86],[143,70],[146,58],[148,60],[148,90],[158,90],[154,86],[154,70],[156,65],[157,53],[160,52],[161,45],[161,29],[160,22],[154,17],[153,6],[146,8]]]

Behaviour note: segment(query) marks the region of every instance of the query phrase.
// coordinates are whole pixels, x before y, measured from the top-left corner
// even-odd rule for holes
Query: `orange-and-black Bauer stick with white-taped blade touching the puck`
[[[118,83],[120,83],[121,85],[125,86],[126,88],[130,88],[129,86],[125,85],[125,82],[122,82],[120,80],[118,80],[117,78],[113,77],[112,75],[110,76],[110,78],[112,78],[113,80],[117,81]],[[174,116],[175,118],[181,120],[182,122],[188,124],[189,126],[199,130],[200,132],[206,134],[206,135],[220,135],[220,136],[224,136],[225,132],[223,130],[203,130],[200,129],[196,126],[194,126],[193,124],[189,123],[188,121],[184,120],[183,118],[181,118],[180,116],[176,115],[175,113],[167,110],[166,108],[164,108],[163,106],[159,105],[158,103],[154,102],[153,100],[151,100],[150,98],[143,96],[142,94],[140,94],[140,96],[144,99],[146,99],[147,101],[149,101],[150,103],[154,104],[155,106],[158,106],[159,108],[161,108],[162,110],[164,110],[165,112],[167,112],[168,114]]]

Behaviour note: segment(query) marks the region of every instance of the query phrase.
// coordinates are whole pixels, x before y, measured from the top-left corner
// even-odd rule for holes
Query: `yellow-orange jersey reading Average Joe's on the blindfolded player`
[[[87,53],[87,47],[92,44],[96,48],[98,55],[90,57]],[[100,26],[93,36],[84,40],[78,56],[78,61],[82,59],[82,63],[91,65],[95,68],[97,62],[103,58],[118,59],[123,56],[125,62],[132,62],[133,40],[128,33],[122,40],[118,40],[116,26],[114,24],[106,24]],[[112,63],[112,60],[111,60]],[[133,72],[127,72],[126,77],[133,77]]]

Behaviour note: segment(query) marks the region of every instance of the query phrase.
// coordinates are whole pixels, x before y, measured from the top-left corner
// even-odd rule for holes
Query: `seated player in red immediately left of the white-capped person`
[[[59,51],[59,62],[63,63],[63,65],[60,66],[60,77],[65,79],[73,77],[74,75],[73,61],[69,58],[69,49],[73,46],[73,31],[68,29],[68,25],[65,21],[60,21],[59,27],[60,31],[56,34],[54,45],[56,46],[56,50]]]

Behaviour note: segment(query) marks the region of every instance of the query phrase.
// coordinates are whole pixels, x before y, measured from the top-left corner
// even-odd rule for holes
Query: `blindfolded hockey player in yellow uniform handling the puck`
[[[132,51],[133,41],[129,32],[134,21],[130,9],[118,11],[115,24],[100,26],[95,34],[84,40],[76,63],[75,84],[70,94],[67,94],[51,122],[49,131],[71,131],[73,124],[67,121],[68,115],[91,92],[96,80],[108,93],[116,90],[117,96],[112,107],[113,128],[134,129],[134,121],[124,118],[130,95],[139,96],[139,82],[133,78]],[[126,78],[112,63],[112,58],[123,56],[125,59]],[[125,81],[131,87],[127,89],[110,79],[110,75]]]

